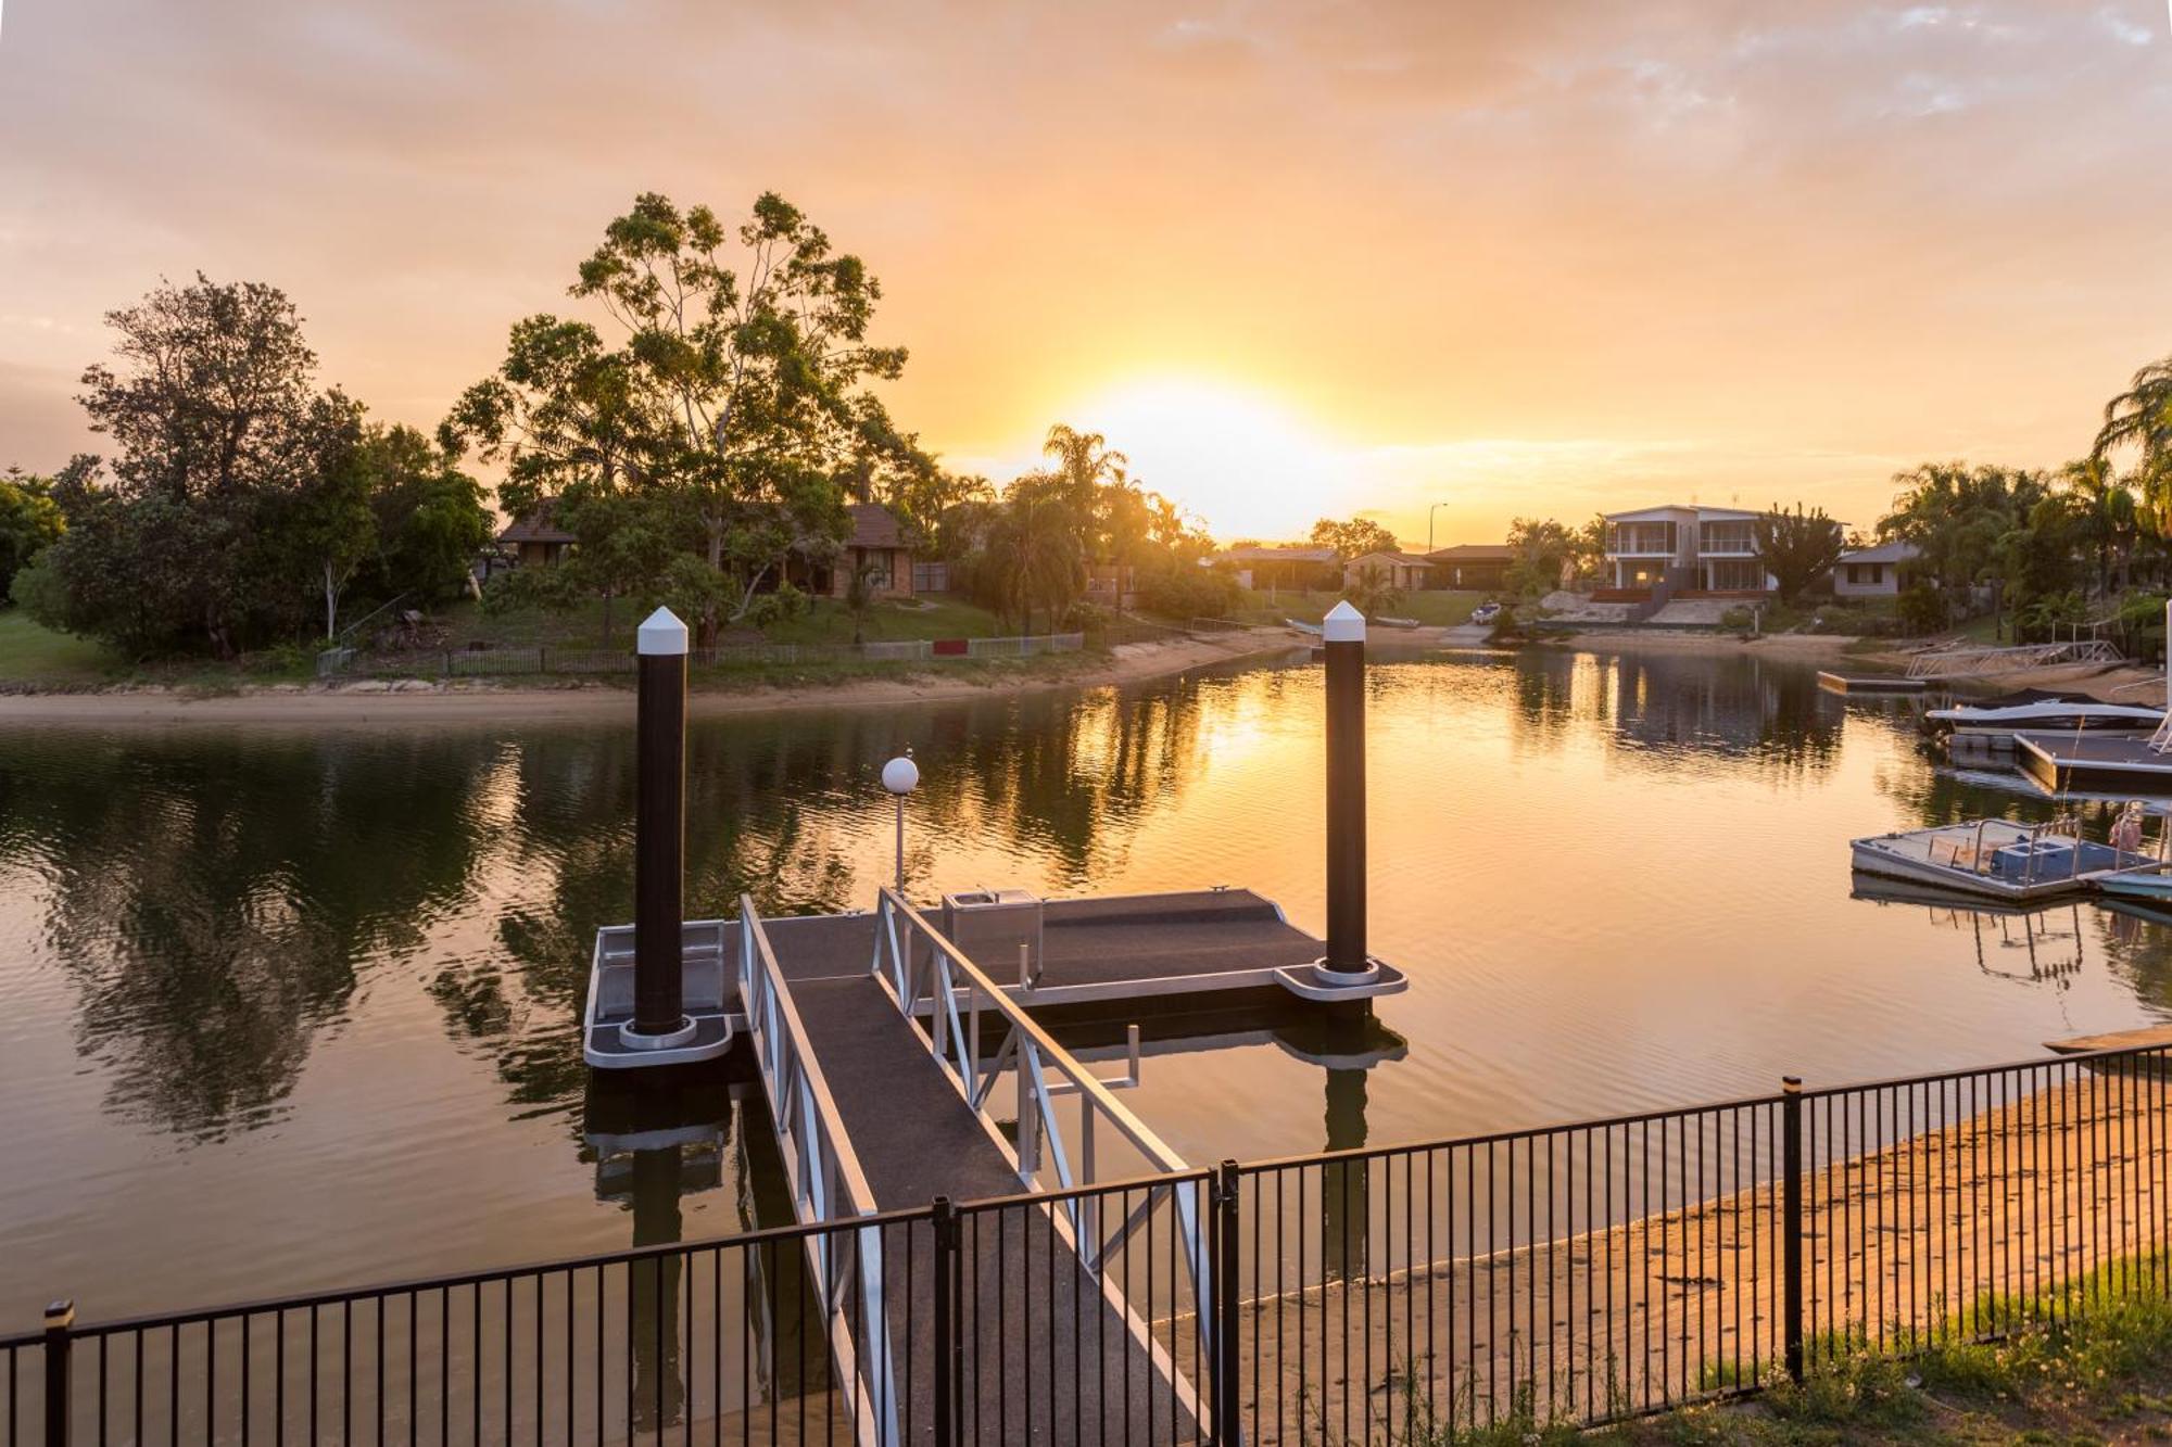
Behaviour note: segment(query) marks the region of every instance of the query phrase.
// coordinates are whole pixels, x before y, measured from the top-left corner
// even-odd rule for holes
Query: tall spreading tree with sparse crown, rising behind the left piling
[[[515,324],[497,374],[467,389],[441,437],[504,458],[506,511],[571,482],[673,500],[699,556],[732,589],[686,569],[712,639],[806,537],[843,537],[847,487],[914,474],[925,456],[867,382],[897,378],[904,348],[867,335],[882,287],[795,206],[765,193],[730,232],[708,206],[643,193],[610,222],[571,295],[619,330],[552,315]]]

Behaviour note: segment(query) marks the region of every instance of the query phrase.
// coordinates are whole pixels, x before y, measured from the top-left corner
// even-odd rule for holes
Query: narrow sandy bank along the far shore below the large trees
[[[1175,643],[1125,643],[1108,656],[1066,658],[1069,667],[1034,667],[1016,674],[899,674],[897,678],[845,678],[793,687],[695,689],[693,717],[769,713],[793,708],[880,708],[984,697],[990,693],[1038,693],[1047,689],[1095,689],[1186,674],[1299,647],[1292,634],[1249,630],[1218,639]],[[491,682],[369,680],[337,687],[265,687],[222,695],[189,695],[172,689],[109,689],[98,693],[0,695],[0,726],[237,726],[280,724],[306,728],[400,728],[413,724],[589,724],[632,721],[634,693],[626,687],[586,682],[567,687],[504,687]]]

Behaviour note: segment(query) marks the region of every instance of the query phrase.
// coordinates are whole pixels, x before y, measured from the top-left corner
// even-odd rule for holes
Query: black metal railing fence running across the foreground
[[[0,1341],[0,1440],[1340,1445],[1605,1421],[2165,1291],[2168,1075],[2165,1049],[2129,1049],[1790,1084],[256,1306],[59,1317]]]

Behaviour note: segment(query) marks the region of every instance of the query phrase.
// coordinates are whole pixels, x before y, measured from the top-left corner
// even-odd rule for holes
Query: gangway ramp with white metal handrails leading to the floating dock
[[[1043,1160],[1053,1162],[1060,1184],[1077,1180],[1071,1154],[1079,1152],[1066,1154],[1056,1095],[1082,1097],[1077,1165],[1088,1178],[1097,1115],[1103,1132],[1114,1128],[1145,1147],[1149,1169],[1184,1171],[895,893],[884,891],[873,915],[773,921],[741,899],[738,932],[747,1030],[804,1223],[925,1208],[936,1197],[1019,1197]],[[932,1026],[914,1021],[914,1006]],[[975,1006],[993,1017],[986,1054]],[[986,1110],[1006,1065],[1019,1086],[1016,1145]],[[971,1082],[980,1089],[969,1102]],[[1160,1317],[1166,1325],[1203,1286],[1203,1195],[1205,1182],[1186,1178],[1108,1206],[1014,1199],[964,1212],[956,1440],[1203,1436],[1195,1382],[1205,1360],[1171,1360],[1149,1323]],[[875,1447],[932,1440],[932,1228],[921,1219],[849,1236],[851,1249],[821,1238],[810,1256],[856,1436]]]

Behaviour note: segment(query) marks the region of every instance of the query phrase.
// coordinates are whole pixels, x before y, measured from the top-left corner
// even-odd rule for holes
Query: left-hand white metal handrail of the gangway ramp
[[[738,897],[738,997],[754,1036],[754,1060],[778,1128],[793,1212],[806,1221],[834,1217],[875,1219],[875,1193],[845,1136],[843,1115],[808,1041],[799,1006],[784,986],[769,932],[749,895]],[[860,1225],[856,1249],[838,1251],[832,1236],[810,1236],[815,1293],[830,1321],[830,1349],[845,1380],[862,1391],[854,1419],[862,1443],[893,1447],[904,1440],[897,1419],[897,1369],[882,1267],[882,1225]],[[858,1280],[858,1293],[854,1282]],[[858,1317],[858,1323],[851,1321]],[[858,1334],[854,1332],[858,1325]]]

